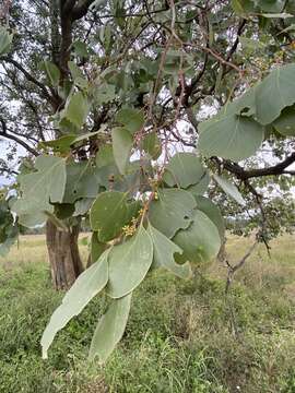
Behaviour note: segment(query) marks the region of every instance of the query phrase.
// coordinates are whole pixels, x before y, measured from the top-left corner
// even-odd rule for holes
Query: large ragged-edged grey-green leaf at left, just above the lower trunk
[[[22,198],[12,206],[19,222],[34,227],[47,219],[45,211],[54,213],[50,203],[62,203],[66,188],[66,160],[59,157],[38,156],[35,163],[36,172],[20,175]]]

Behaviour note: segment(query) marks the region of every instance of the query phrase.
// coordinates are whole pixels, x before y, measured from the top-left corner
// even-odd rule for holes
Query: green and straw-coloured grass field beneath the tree
[[[229,240],[231,261],[249,241]],[[122,342],[101,367],[86,356],[103,297],[42,360],[40,335],[62,294],[51,288],[44,238],[23,237],[0,261],[0,392],[295,393],[294,257],[291,236],[273,241],[271,259],[259,247],[227,297],[219,263],[190,282],[151,273],[133,296]]]

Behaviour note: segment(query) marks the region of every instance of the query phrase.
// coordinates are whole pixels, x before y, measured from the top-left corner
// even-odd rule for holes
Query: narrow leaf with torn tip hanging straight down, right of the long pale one
[[[121,340],[130,311],[132,294],[113,299],[107,312],[102,317],[92,337],[88,359],[96,356],[104,364]]]

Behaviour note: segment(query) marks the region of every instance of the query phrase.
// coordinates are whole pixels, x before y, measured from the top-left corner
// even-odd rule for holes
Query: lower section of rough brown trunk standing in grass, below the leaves
[[[51,278],[57,290],[70,288],[83,271],[78,248],[79,233],[79,225],[64,231],[57,228],[50,221],[46,224],[46,243]]]

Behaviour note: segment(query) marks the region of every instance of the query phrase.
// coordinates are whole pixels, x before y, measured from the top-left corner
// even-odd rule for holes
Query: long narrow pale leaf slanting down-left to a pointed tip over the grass
[[[47,350],[56,334],[66,324],[78,315],[91,299],[97,295],[107,284],[109,250],[106,250],[99,260],[82,273],[70,290],[66,294],[62,303],[54,312],[42,336],[43,358],[47,358]]]

